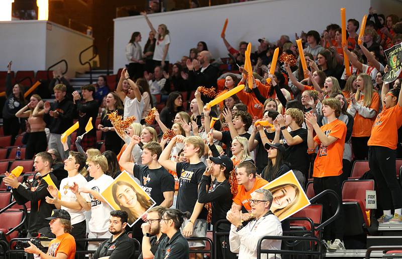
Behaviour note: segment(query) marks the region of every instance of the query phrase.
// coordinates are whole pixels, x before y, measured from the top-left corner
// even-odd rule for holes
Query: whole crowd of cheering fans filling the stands
[[[337,24],[328,25],[321,35],[314,30],[302,32],[308,69],[303,70],[300,61],[278,62],[273,74],[268,71],[276,47],[298,58],[297,46],[287,35],[275,43],[258,39],[257,50],[251,53],[252,74],[243,68],[247,43],[242,41],[235,49],[225,35],[223,44],[233,59],[214,59],[207,43],[200,41],[188,56],[171,65],[167,26],[155,30],[147,14],[142,15],[151,29],[149,38],[142,49],[141,34],[133,33],[126,47],[127,69],[119,75],[116,92],[110,92],[106,77],[99,76],[95,85],[85,85],[78,93],[55,71],[54,102],[43,102],[36,94],[25,100],[22,85],[11,83],[12,63],[8,65],[4,133],[14,140],[15,129],[26,125],[25,158],[35,159],[40,176],[27,186],[13,177],[3,181],[19,204],[31,202],[28,237],[37,232],[56,237],[48,255],[61,252],[72,258],[71,236],[83,238],[88,233],[89,238],[110,238],[100,246],[89,244],[88,249],[97,249],[95,258],[130,256],[133,244],[124,229],[141,215],[124,207],[119,197],[115,201],[122,210],[113,211],[100,195],[123,169],[157,205],[132,228],[133,237],[142,243],[143,258],[188,258],[189,249],[202,249],[205,243],[187,242],[184,237],[205,237],[209,223],[221,219],[229,221],[219,227],[229,235],[215,240],[219,257],[235,258],[239,253],[255,258],[259,238],[288,230],[273,212],[294,199],[285,192],[273,198],[259,188],[292,169],[303,187],[313,178],[316,194],[330,189],[342,197],[342,183],[350,177],[353,161],[360,159],[368,159],[368,177],[379,190],[382,216],[378,221],[402,222],[402,190],[394,166],[395,159],[402,157],[400,79],[381,80],[387,70],[384,49],[402,41],[402,22],[396,15],[384,17],[370,8],[361,44],[355,19],[348,20],[345,46]],[[344,53],[351,62],[349,76]],[[220,74],[222,64],[233,69]],[[252,85],[248,85],[250,77]],[[244,91],[213,107],[206,105],[213,98],[197,91],[202,85],[220,96],[241,84]],[[194,98],[185,103],[183,94],[187,97],[193,91]],[[153,107],[163,107],[154,113],[159,135],[156,125],[145,122]],[[108,117],[116,111],[137,119],[123,135]],[[95,127],[97,118],[100,124]],[[85,133],[89,119],[93,129],[77,137],[75,145],[68,137],[67,145],[74,149],[68,152],[60,136],[74,119],[79,121],[77,136]],[[256,124],[260,121],[272,127]],[[103,132],[107,151],[102,154],[96,130]],[[169,138],[166,132],[174,136]],[[48,175],[58,189],[43,181]],[[324,219],[331,217],[335,200],[320,202]],[[140,199],[137,203],[141,206]],[[91,211],[91,216],[85,211]],[[341,208],[340,216],[324,229],[328,249],[345,249],[343,224]],[[58,250],[52,246],[55,242],[60,244]],[[265,240],[262,246],[279,250],[281,243]],[[77,242],[76,247],[83,250],[84,244]],[[33,244],[26,251],[50,258]]]

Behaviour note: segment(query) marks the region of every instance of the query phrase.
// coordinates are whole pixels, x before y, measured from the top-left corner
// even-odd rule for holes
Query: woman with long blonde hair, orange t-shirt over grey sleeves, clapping
[[[357,76],[356,85],[356,94],[350,94],[348,113],[354,117],[352,148],[355,160],[364,160],[368,157],[367,141],[378,113],[379,96],[366,73]]]

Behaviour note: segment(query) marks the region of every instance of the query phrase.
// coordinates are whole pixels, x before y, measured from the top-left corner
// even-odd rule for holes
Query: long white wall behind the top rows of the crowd
[[[389,1],[389,0],[388,0]],[[229,19],[226,39],[238,47],[240,41],[251,41],[253,50],[258,39],[276,41],[280,35],[289,35],[304,30],[320,33],[330,23],[341,25],[340,9],[346,8],[346,19],[361,18],[367,13],[370,0],[259,0],[239,4],[188,9],[149,15],[155,28],[166,24],[170,31],[170,62],[188,55],[189,49],[198,41],[207,42],[214,57],[227,56],[220,37],[225,19]],[[125,46],[134,31],[142,34],[142,47],[148,38],[149,27],[143,16],[115,19],[114,71],[127,63]]]

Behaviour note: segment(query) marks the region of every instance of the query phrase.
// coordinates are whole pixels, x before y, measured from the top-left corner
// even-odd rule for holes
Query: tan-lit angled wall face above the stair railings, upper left
[[[53,24],[46,32],[46,68],[54,63],[65,59],[68,62],[67,76],[75,76],[75,72],[88,70],[88,65],[81,66],[78,60],[79,52],[93,44],[92,37],[88,37],[80,32],[69,28]],[[82,61],[92,57],[92,49],[87,50],[82,55]],[[60,66],[64,70],[64,63]]]

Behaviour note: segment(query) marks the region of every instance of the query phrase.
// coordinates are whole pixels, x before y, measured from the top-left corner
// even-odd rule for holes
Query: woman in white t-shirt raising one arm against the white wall
[[[156,31],[152,23],[148,19],[147,13],[141,12],[141,15],[145,17],[145,20],[147,21],[149,28],[155,34],[156,45],[153,56],[154,66],[161,66],[163,67],[163,70],[168,72],[169,71],[168,50],[170,44],[169,30],[167,29],[166,25],[160,24],[158,26],[158,31]]]

